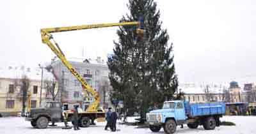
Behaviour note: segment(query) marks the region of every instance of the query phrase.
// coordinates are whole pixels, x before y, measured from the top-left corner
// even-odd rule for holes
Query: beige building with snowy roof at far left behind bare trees
[[[51,73],[45,73],[46,76],[51,76],[50,74]],[[20,91],[20,79],[24,75],[29,78],[28,93],[31,94],[31,107],[39,107],[41,89],[40,70],[31,70],[30,68],[25,69],[23,66],[20,68],[9,67],[8,69],[0,70],[0,114],[2,116],[17,115],[22,111],[22,91]],[[45,101],[45,95],[46,92],[43,88],[42,103]]]

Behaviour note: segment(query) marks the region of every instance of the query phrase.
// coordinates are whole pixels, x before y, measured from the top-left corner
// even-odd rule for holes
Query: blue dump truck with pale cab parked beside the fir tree
[[[147,123],[153,132],[162,126],[165,133],[175,133],[177,125],[187,124],[195,129],[203,125],[205,130],[220,126],[220,117],[225,114],[225,103],[189,103],[188,101],[165,101],[162,109],[147,113]]]

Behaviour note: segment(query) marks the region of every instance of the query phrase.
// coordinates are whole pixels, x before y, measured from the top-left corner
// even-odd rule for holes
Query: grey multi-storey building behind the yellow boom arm
[[[84,80],[99,92],[101,97],[100,105],[108,105],[109,101],[109,79],[108,79],[108,66],[100,60],[100,57],[96,61],[90,59],[68,59],[70,64],[76,69],[76,71],[82,75]],[[54,61],[51,64],[59,83],[59,88],[61,90],[59,100],[62,103],[67,103],[70,108],[70,104],[82,104],[90,103],[93,101],[90,93],[83,92],[81,83],[77,80],[72,73],[64,66],[61,61]],[[86,108],[84,108],[85,110]]]

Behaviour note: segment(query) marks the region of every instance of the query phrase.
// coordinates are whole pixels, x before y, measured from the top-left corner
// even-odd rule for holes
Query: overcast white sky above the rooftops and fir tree
[[[128,0],[0,2],[0,67],[37,66],[54,54],[40,28],[118,22]],[[256,1],[157,1],[180,82],[256,82]],[[117,27],[54,34],[67,57],[105,57]]]

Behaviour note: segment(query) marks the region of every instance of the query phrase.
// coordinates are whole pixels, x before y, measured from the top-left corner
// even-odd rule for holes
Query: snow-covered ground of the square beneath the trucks
[[[132,121],[133,119],[130,119]],[[256,117],[252,116],[225,116],[221,121],[232,121],[236,123],[236,126],[220,126],[215,130],[204,130],[202,126],[199,126],[196,130],[189,129],[186,125],[181,129],[177,127],[176,133],[184,134],[255,134],[256,133]],[[58,123],[58,126],[49,127],[45,130],[38,130],[32,128],[28,121],[24,121],[23,117],[2,117],[0,118],[0,133],[1,134],[79,134],[79,133],[151,133],[148,128],[136,128],[136,126],[117,125],[117,129],[120,131],[111,132],[105,131],[104,126],[106,123],[97,123],[96,126],[90,126],[90,128],[81,128],[79,131],[74,130],[62,130],[63,123]],[[163,129],[159,133],[164,133]]]

